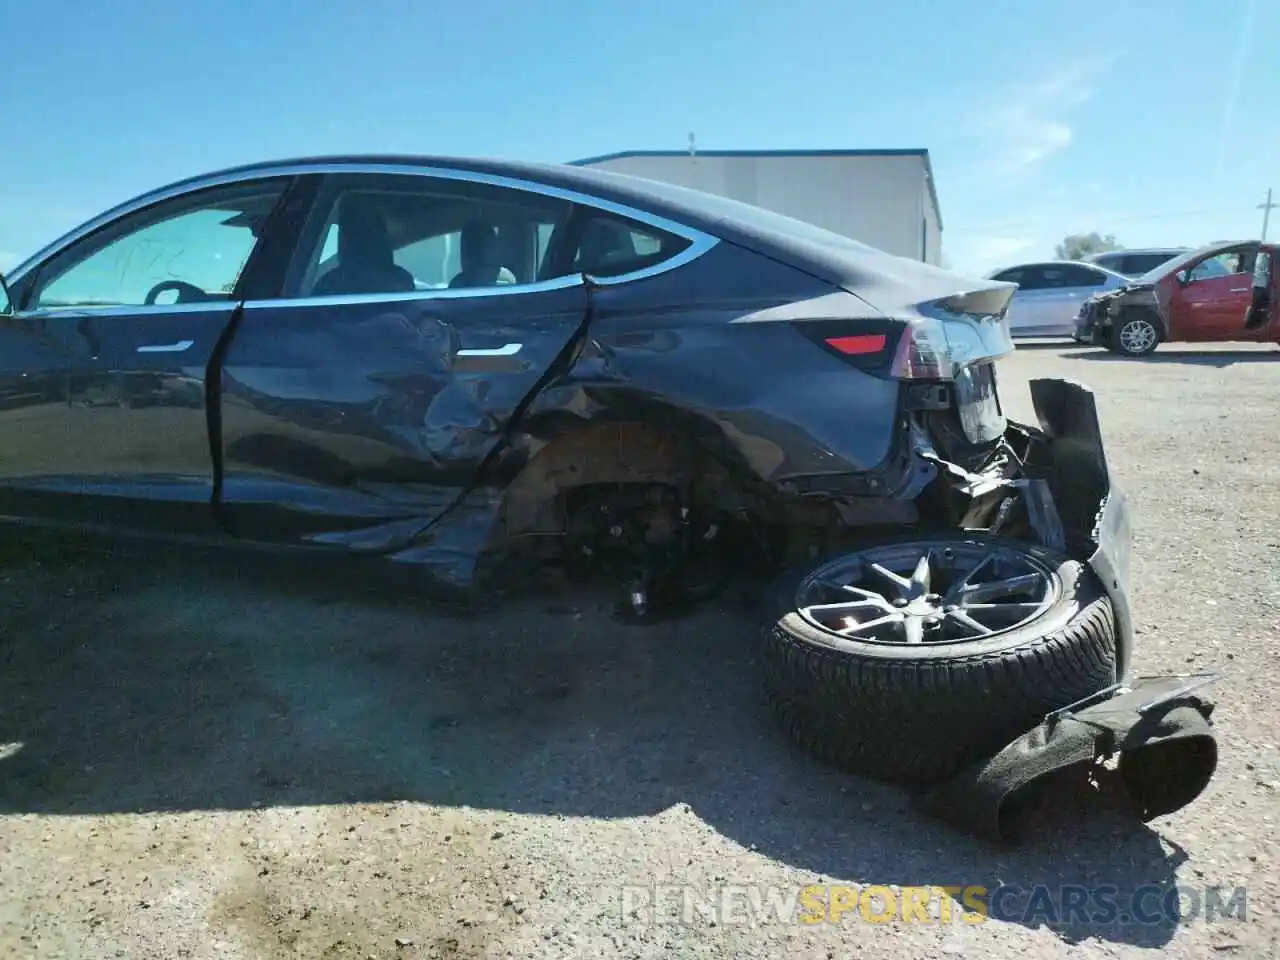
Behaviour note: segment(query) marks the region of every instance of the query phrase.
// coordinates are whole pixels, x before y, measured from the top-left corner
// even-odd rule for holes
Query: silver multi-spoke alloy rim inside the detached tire
[[[1046,563],[968,540],[888,544],[849,553],[800,584],[796,611],[861,643],[984,640],[1030,623],[1061,595]]]

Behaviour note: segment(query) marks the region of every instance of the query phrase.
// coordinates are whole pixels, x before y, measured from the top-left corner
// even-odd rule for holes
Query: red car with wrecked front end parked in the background
[[[1272,303],[1280,244],[1215,243],[1174,257],[1126,287],[1091,297],[1075,339],[1140,357],[1165,340],[1280,343]]]

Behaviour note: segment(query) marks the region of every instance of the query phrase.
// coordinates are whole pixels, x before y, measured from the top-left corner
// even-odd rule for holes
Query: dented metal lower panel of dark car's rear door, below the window
[[[581,287],[250,305],[221,369],[228,525],[255,540],[407,545],[475,481],[585,305]]]

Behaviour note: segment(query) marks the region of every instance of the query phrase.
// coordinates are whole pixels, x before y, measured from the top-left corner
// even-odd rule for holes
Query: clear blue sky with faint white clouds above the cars
[[[928,147],[959,270],[1256,237],[1267,0],[0,0],[0,264],[241,161]],[[1280,211],[1270,234],[1280,236]]]

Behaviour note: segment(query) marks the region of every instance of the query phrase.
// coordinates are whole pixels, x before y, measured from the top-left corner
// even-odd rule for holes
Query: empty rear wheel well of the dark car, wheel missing
[[[594,422],[556,436],[506,484],[494,559],[588,557],[600,572],[607,556],[645,566],[675,549],[692,567],[708,550],[719,563],[776,566],[920,520],[915,502],[783,493],[684,426]]]

